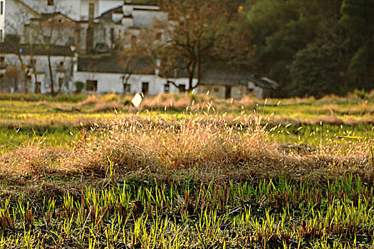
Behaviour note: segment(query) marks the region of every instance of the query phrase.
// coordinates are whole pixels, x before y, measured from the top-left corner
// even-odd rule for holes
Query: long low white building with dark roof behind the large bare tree
[[[125,72],[118,61],[113,58],[78,58],[73,81],[83,82],[85,92],[125,94],[142,92],[144,95],[158,95],[188,90],[186,75],[176,75],[177,78],[160,78],[149,63],[138,61],[137,65],[137,70],[129,73]],[[167,83],[168,80],[175,85]],[[194,80],[194,84],[196,82],[197,80]]]

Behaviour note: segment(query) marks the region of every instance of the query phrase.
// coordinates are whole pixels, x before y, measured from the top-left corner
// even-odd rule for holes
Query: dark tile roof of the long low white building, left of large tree
[[[92,73],[132,73],[132,74],[155,74],[152,63],[142,58],[134,58],[130,64],[130,72],[125,72],[125,65],[121,65],[120,58],[116,55],[100,58],[80,56],[78,58],[78,72]],[[125,58],[122,58],[125,61]]]

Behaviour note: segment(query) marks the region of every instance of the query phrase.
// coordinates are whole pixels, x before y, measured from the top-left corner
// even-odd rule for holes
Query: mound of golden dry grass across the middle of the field
[[[103,177],[251,179],[281,175],[293,179],[333,178],[353,171],[365,179],[373,175],[368,140],[350,149],[326,147],[284,150],[271,142],[263,125],[242,118],[230,123],[221,116],[189,117],[180,121],[118,120],[82,133],[70,151],[38,144],[5,154],[1,171],[43,176],[46,171]]]

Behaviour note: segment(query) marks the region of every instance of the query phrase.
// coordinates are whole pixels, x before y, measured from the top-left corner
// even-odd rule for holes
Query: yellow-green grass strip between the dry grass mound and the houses
[[[355,96],[232,101],[214,100],[207,95],[160,95],[146,98],[139,109],[130,105],[130,97],[117,95],[78,95],[72,96],[71,102],[66,102],[67,96],[56,100],[44,95],[39,97],[40,100],[38,95],[14,95],[8,96],[9,100],[0,100],[1,152],[31,139],[41,139],[51,146],[69,147],[83,128],[89,130],[97,124],[109,124],[111,120],[127,119],[132,115],[149,120],[163,117],[170,121],[207,114],[221,115],[229,120],[244,116],[252,120],[263,117],[263,124],[266,119],[271,127],[281,124],[280,129],[270,135],[283,144],[345,144],[338,136],[374,137],[374,101]],[[0,96],[0,99],[5,97]]]

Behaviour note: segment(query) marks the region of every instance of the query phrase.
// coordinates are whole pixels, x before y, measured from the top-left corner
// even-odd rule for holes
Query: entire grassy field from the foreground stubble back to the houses
[[[372,95],[0,95],[0,248],[373,248]]]

